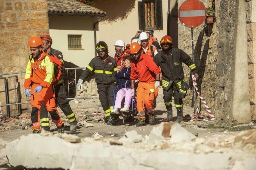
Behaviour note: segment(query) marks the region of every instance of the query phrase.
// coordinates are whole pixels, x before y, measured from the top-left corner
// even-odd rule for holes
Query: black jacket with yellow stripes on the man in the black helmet
[[[116,60],[113,57],[108,55],[105,62],[103,62],[100,56],[96,56],[88,64],[86,70],[82,73],[79,79],[84,81],[94,72],[96,83],[111,84],[116,82],[116,67]]]

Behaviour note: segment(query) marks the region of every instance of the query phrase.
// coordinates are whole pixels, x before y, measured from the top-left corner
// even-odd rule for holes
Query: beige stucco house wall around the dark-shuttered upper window
[[[140,0],[141,1],[141,0]],[[96,8],[107,13],[103,21],[99,23],[97,41],[105,41],[109,46],[109,54],[115,53],[116,40],[123,40],[125,44],[131,42],[131,38],[139,31],[138,1],[102,1],[95,0]],[[171,9],[175,1],[171,1]],[[154,36],[160,39],[167,34],[167,9],[168,0],[162,0],[163,30],[154,30]]]

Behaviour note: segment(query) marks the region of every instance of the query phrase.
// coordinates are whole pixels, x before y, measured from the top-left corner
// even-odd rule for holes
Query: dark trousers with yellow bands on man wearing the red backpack
[[[55,102],[60,107],[62,112],[66,115],[70,124],[77,123],[75,114],[73,113],[73,111],[68,103],[63,82],[59,83],[55,86]],[[41,109],[40,109],[40,118],[41,119],[48,118],[48,111],[46,110],[46,107],[44,104],[42,104]],[[41,123],[47,123],[47,122],[41,122]],[[48,123],[49,123],[49,121],[48,121]],[[42,126],[42,128],[44,128],[45,130],[48,130],[48,128],[50,128],[50,127]]]

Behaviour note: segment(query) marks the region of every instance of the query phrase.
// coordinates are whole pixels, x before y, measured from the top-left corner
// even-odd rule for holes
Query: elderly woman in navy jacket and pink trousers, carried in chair
[[[118,109],[121,108],[121,103],[123,98],[125,97],[124,107],[121,109],[122,112],[128,112],[132,100],[132,91],[131,91],[131,56],[125,56],[123,58],[124,68],[116,74],[117,82],[118,82],[118,91],[116,94],[116,101],[114,110],[111,113],[118,114]]]

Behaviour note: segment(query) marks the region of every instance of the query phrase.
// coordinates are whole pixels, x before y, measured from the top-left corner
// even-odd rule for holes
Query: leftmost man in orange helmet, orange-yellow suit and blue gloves
[[[40,133],[41,131],[39,111],[41,103],[44,103],[52,117],[52,121],[58,128],[58,132],[64,133],[64,124],[55,107],[52,87],[54,66],[51,57],[43,51],[42,44],[43,41],[39,37],[32,37],[29,40],[31,54],[29,56],[24,81],[26,97],[31,97],[32,130],[33,133]]]

